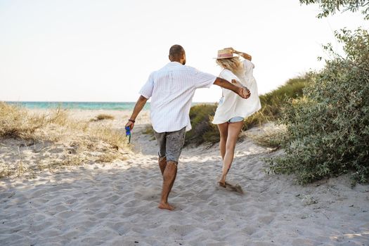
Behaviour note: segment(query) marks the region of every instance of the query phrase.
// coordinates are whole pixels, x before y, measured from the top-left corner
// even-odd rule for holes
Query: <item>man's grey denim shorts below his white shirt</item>
[[[167,162],[178,163],[186,135],[186,127],[179,131],[167,131],[157,133],[154,131],[157,144],[159,145],[159,157],[167,157]]]

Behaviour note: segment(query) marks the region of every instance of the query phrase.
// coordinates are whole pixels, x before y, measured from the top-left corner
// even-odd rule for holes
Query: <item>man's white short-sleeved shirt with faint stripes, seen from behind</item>
[[[198,88],[209,88],[216,76],[171,62],[152,72],[140,94],[151,98],[150,117],[156,132],[191,129],[190,107]]]

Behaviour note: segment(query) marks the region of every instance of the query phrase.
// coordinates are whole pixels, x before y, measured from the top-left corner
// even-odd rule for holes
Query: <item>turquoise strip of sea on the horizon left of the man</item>
[[[20,105],[25,108],[65,108],[79,110],[133,110],[134,102],[104,103],[104,102],[6,102],[13,105]],[[146,103],[145,110],[150,109],[150,103]]]

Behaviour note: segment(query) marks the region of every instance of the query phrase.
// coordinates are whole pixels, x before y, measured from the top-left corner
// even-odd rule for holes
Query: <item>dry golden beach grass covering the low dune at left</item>
[[[34,176],[83,163],[112,162],[127,157],[122,132],[109,124],[70,119],[67,110],[29,112],[0,103],[0,176]]]

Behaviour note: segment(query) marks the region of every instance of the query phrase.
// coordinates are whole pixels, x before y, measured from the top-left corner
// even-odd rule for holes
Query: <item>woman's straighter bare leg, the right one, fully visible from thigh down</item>
[[[219,180],[219,184],[222,186],[226,186],[226,176],[228,174],[229,169],[231,168],[231,164],[233,161],[233,156],[235,154],[235,144],[238,140],[238,135],[243,127],[242,122],[234,122],[228,124],[228,136],[226,141],[226,153],[223,158],[223,170],[221,174],[221,179]]]

